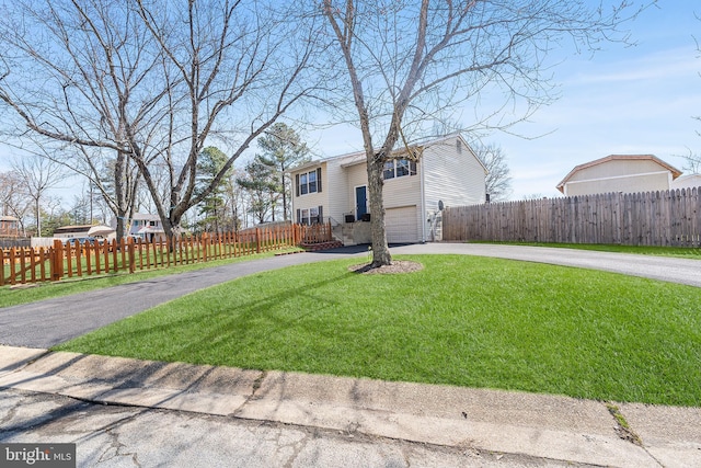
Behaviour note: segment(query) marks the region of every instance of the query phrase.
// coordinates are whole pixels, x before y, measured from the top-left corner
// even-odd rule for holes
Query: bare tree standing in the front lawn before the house
[[[372,266],[391,263],[384,231],[382,168],[414,157],[410,144],[441,112],[478,105],[484,90],[522,99],[526,115],[552,98],[543,58],[572,38],[595,49],[616,38],[629,2],[584,0],[324,0],[323,15],[347,71],[368,167]],[[634,12],[632,13],[634,14]],[[510,109],[508,111],[512,111]],[[484,123],[505,127],[509,112]],[[516,117],[515,117],[516,118]],[[507,122],[508,121],[508,122]],[[377,145],[376,145],[377,141]],[[401,149],[403,147],[403,149]]]

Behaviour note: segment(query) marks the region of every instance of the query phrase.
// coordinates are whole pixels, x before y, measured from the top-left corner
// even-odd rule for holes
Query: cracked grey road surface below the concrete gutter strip
[[[0,390],[0,442],[74,443],[80,467],[572,467],[267,421]],[[32,431],[26,427],[32,425]]]

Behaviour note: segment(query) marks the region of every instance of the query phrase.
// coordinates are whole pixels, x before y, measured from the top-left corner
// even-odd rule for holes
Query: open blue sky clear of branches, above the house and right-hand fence
[[[598,4],[593,0],[591,3]],[[512,171],[512,199],[562,196],[555,185],[577,164],[613,153],[655,155],[682,169],[689,149],[701,153],[701,2],[659,0],[627,23],[636,45],[605,44],[594,56],[567,55],[554,69],[559,95],[530,123],[513,128],[524,139],[496,133]],[[324,156],[361,149],[358,132],[310,135]]]

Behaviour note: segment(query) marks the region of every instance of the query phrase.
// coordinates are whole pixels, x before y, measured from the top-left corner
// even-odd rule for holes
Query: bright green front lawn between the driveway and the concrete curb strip
[[[468,255],[261,273],[57,350],[701,406],[701,288]],[[361,260],[360,260],[361,261]]]

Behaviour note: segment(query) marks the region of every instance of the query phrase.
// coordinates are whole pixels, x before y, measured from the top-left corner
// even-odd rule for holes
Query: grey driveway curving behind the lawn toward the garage
[[[469,243],[400,246],[393,247],[392,253],[495,256],[604,270],[701,287],[701,260]],[[367,247],[233,263],[39,303],[0,308],[0,344],[50,347],[159,304],[219,283],[267,270],[354,255],[367,259]]]

